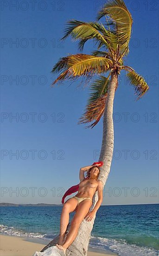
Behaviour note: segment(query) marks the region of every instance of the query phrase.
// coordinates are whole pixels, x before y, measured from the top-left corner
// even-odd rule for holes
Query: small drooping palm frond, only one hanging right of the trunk
[[[136,99],[139,100],[146,92],[149,90],[149,87],[145,81],[145,79],[137,74],[134,71],[128,72],[127,77],[130,81],[130,83],[134,86],[135,89],[135,94],[138,95],[138,98]]]

